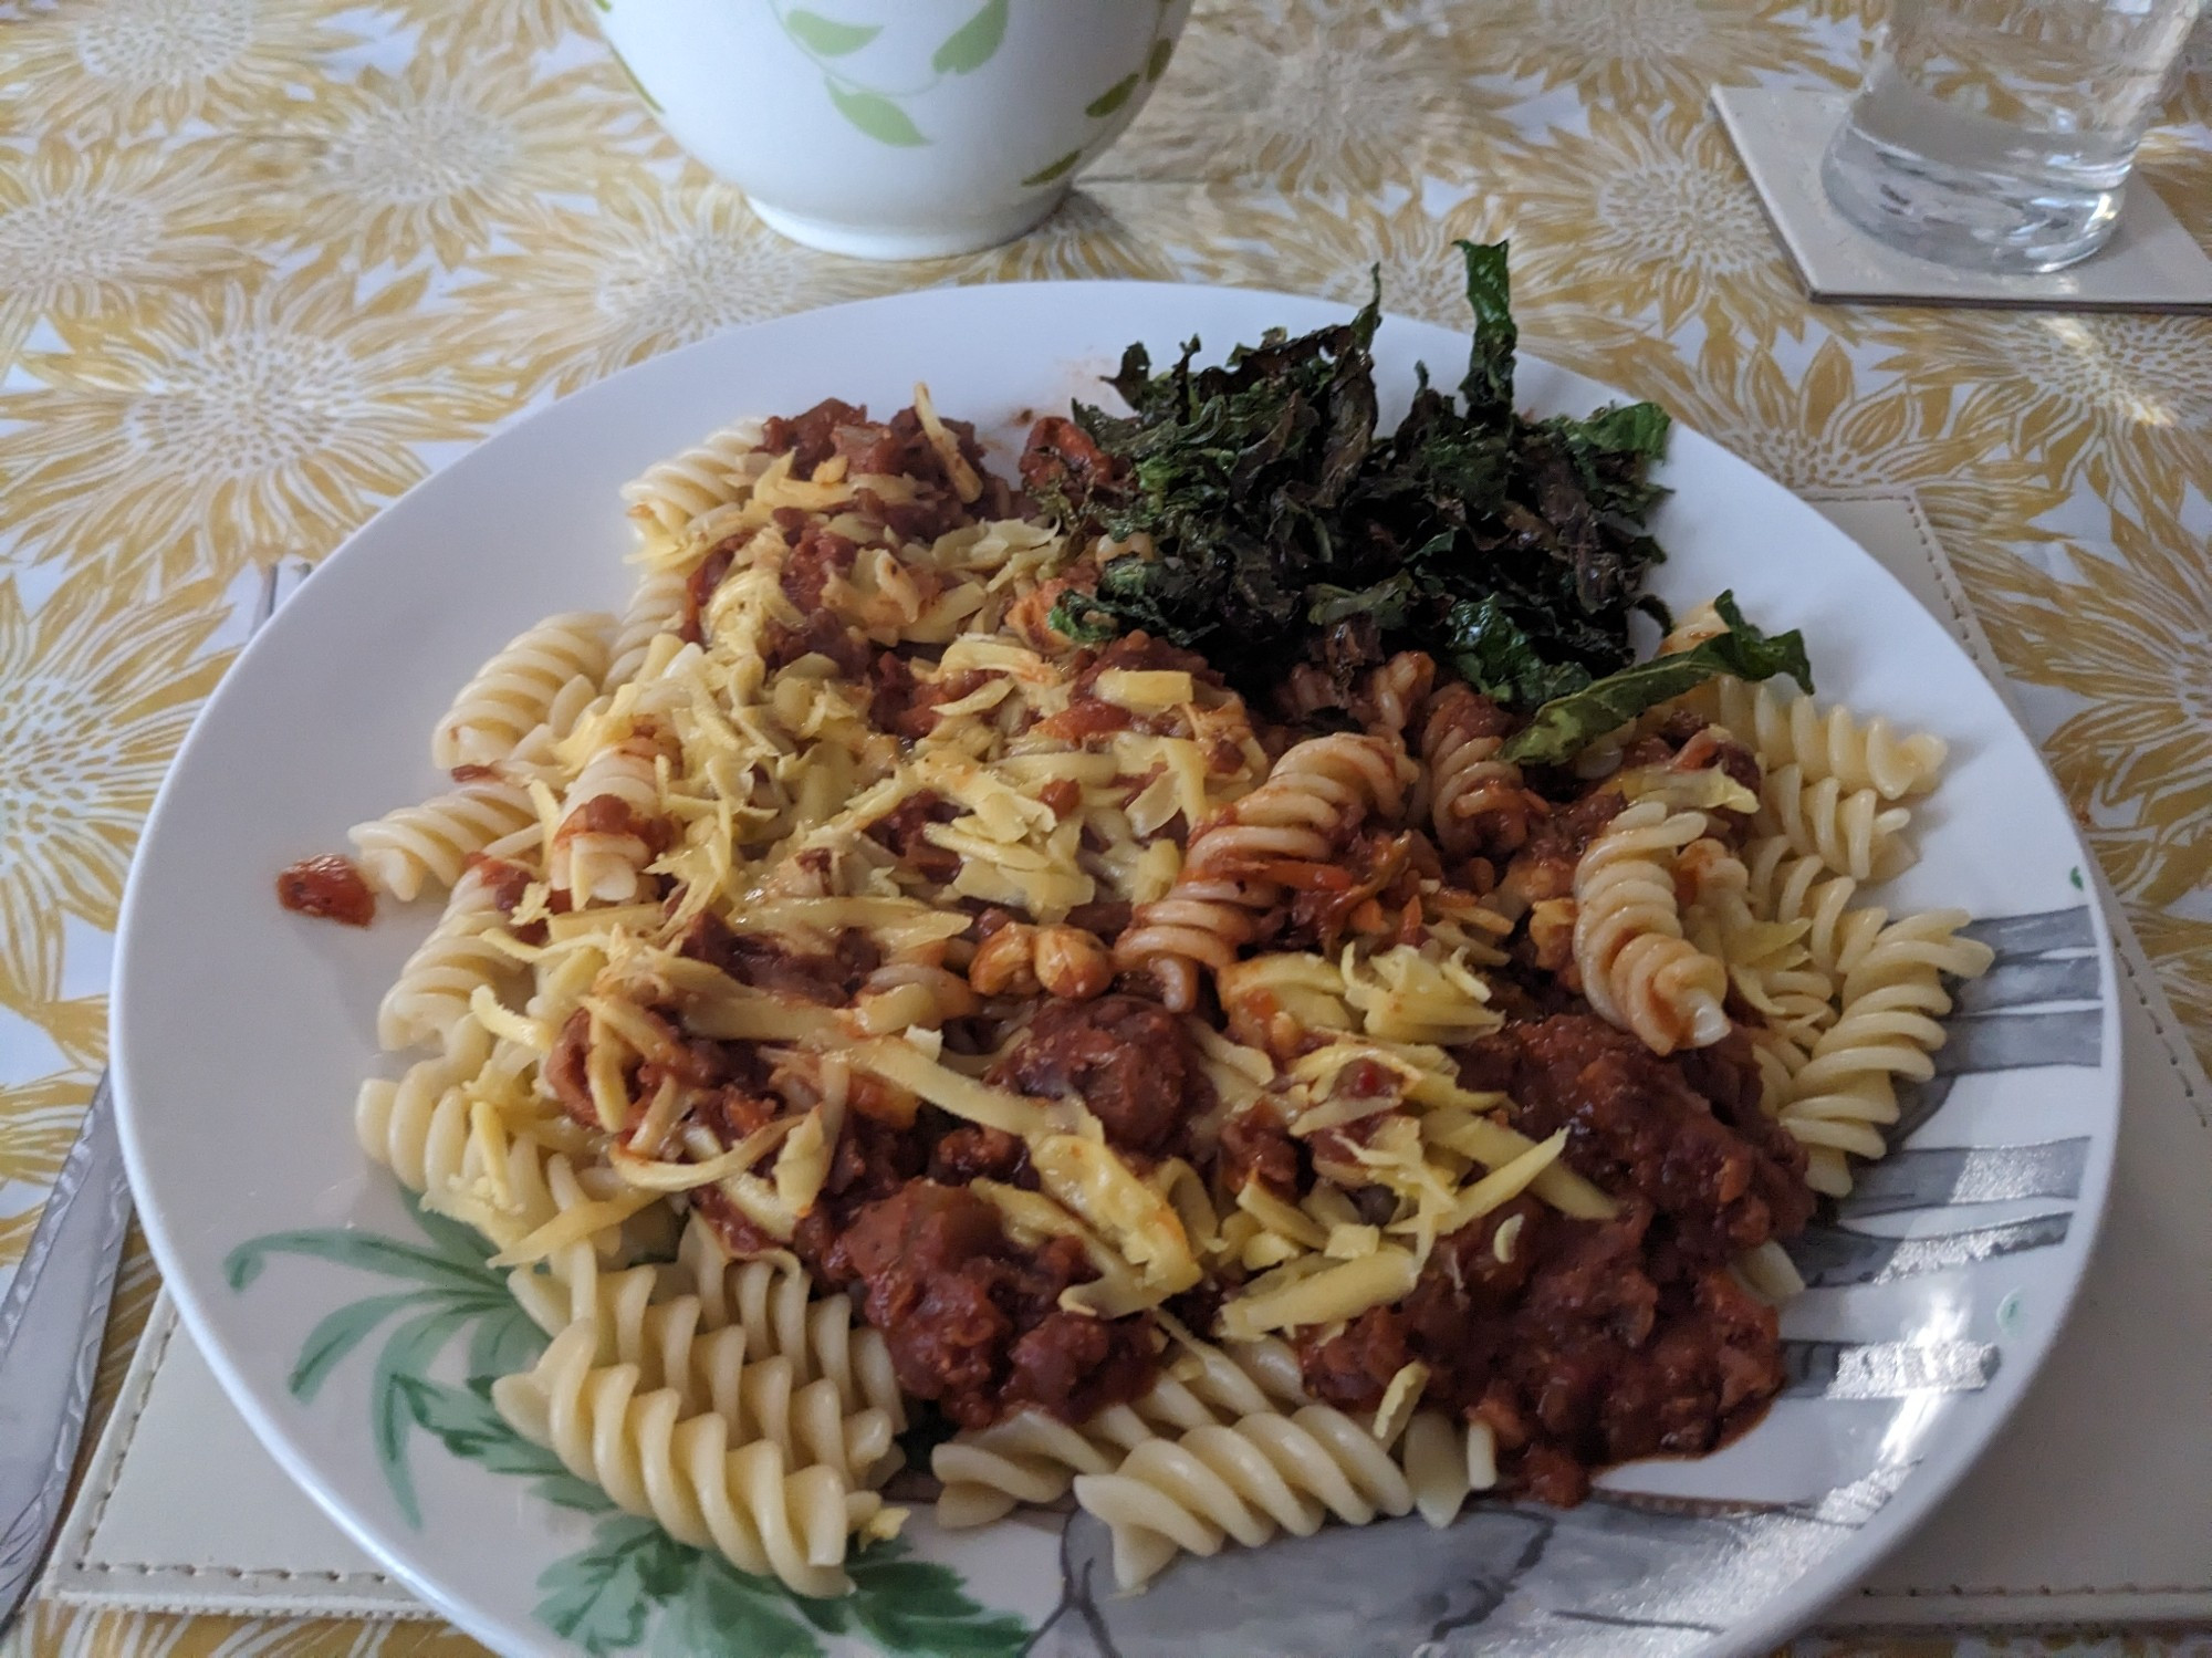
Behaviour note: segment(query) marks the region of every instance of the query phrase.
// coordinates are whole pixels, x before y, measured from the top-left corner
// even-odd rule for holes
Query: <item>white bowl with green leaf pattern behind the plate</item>
[[[1020,237],[1135,119],[1190,0],[599,0],[675,139],[810,248]]]

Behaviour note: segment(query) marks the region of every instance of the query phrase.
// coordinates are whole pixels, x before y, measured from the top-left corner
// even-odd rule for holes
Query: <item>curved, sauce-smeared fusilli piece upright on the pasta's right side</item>
[[[1657,1054],[1728,1035],[1728,968],[1683,937],[1674,858],[1703,814],[1641,800],[1575,864],[1575,966],[1597,1015]]]

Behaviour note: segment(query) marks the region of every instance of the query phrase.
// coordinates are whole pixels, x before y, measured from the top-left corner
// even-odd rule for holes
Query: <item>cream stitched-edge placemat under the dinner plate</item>
[[[1907,493],[1818,502],[2002,688]],[[2004,1437],[1834,1627],[2212,1620],[2212,1088],[2110,900],[2128,986],[2112,1218]],[[46,1594],[215,1614],[427,1618],[261,1450],[164,1300]]]

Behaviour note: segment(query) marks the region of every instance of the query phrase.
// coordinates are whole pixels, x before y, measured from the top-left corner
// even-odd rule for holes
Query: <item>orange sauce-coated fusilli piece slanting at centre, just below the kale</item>
[[[1389,736],[1332,734],[1294,745],[1267,780],[1190,838],[1164,898],[1115,940],[1115,966],[1152,968],[1177,1012],[1194,1006],[1194,968],[1219,973],[1252,940],[1252,917],[1285,884],[1321,871],[1369,816],[1398,818],[1413,780]]]

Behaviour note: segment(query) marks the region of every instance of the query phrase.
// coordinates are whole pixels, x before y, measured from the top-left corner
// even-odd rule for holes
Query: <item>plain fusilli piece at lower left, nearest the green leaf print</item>
[[[845,1536],[880,1499],[825,1463],[794,1466],[774,1439],[732,1444],[721,1415],[686,1415],[675,1388],[641,1391],[639,1366],[595,1364],[597,1340],[580,1320],[531,1371],[493,1382],[491,1402],[515,1433],[679,1543],[774,1574],[794,1594],[849,1594]]]

